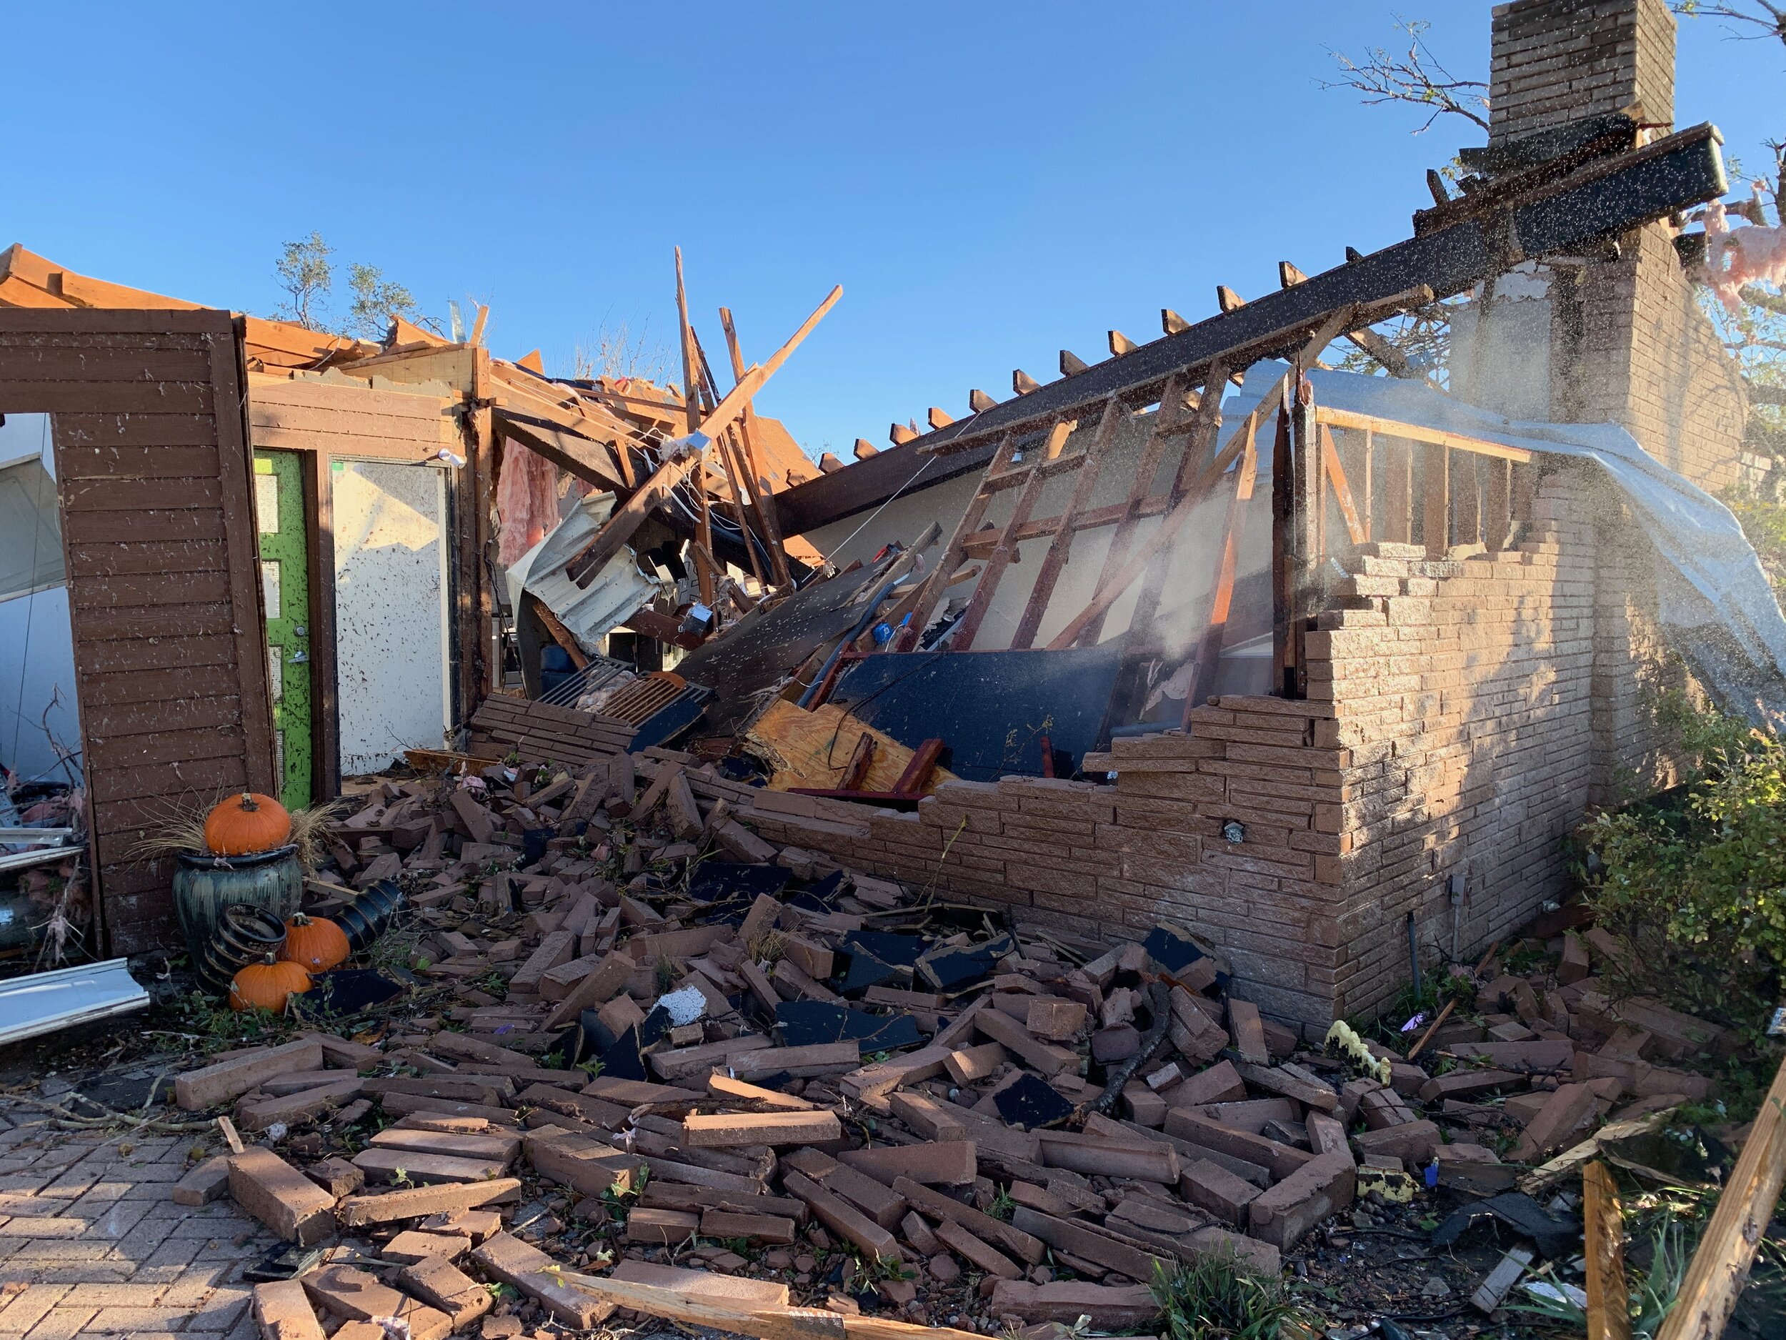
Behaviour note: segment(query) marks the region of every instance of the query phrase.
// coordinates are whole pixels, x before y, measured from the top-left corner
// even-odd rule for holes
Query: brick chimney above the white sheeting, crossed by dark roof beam
[[[1675,20],[1666,0],[1495,5],[1490,143],[1606,113],[1673,129]],[[1707,490],[1732,482],[1741,381],[1698,309],[1666,222],[1606,255],[1550,257],[1502,275],[1477,341],[1457,323],[1452,388],[1522,418],[1622,423],[1650,456]],[[1484,297],[1479,289],[1477,297]]]

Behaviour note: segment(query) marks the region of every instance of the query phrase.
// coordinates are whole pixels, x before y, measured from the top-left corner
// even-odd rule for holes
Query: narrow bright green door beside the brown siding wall
[[[254,454],[254,511],[261,529],[266,666],[273,679],[273,766],[279,802],[307,806],[311,790],[311,565],[304,473],[296,452]]]

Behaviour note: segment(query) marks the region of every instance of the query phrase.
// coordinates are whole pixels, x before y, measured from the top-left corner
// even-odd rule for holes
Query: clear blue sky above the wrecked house
[[[673,343],[672,247],[697,329],[734,309],[766,354],[843,302],[759,407],[811,450],[884,445],[931,404],[1047,381],[1061,347],[1214,311],[1275,263],[1373,250],[1431,204],[1407,109],[1323,91],[1327,48],[1393,43],[1413,5],[36,5],[9,16],[0,243],[270,314],[313,229],[423,307],[491,306],[507,357],[568,372],[625,323]],[[1431,4],[1454,73],[1488,4]],[[77,52],[79,55],[70,55]],[[1786,50],[1684,20],[1677,120],[1761,164]]]

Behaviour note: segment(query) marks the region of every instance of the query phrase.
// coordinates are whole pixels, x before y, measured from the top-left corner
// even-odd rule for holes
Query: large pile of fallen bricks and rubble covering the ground
[[[1622,945],[1584,925],[1509,942],[1404,1051],[1304,1038],[1182,927],[1081,942],[777,849],[709,766],[459,761],[332,824],[309,915],[400,884],[402,993],[293,995],[302,1031],[173,1086],[246,1142],[177,1199],[320,1249],[257,1286],[263,1327],[1132,1329],[1211,1260],[1340,1322],[1482,1320],[1579,1256],[1565,1172],[1636,1161],[1740,1042],[1611,1001]]]

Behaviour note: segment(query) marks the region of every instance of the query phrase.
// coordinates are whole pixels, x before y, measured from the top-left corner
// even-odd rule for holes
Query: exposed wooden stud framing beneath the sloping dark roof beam
[[[1295,281],[1295,275],[1291,277]],[[1225,306],[1239,298],[1225,295]],[[1300,638],[1322,602],[1320,565],[1329,554],[1372,541],[1423,543],[1434,557],[1452,556],[1457,547],[1470,552],[1500,552],[1515,540],[1522,518],[1522,500],[1531,497],[1527,466],[1531,452],[1465,434],[1398,423],[1314,402],[1300,368],[1314,366],[1320,352],[1372,316],[1361,307],[1329,313],[1313,331],[1306,331],[1293,372],[1268,389],[1239,429],[1216,452],[1222,431],[1222,395],[1231,381],[1239,382],[1245,361],[1229,364],[1216,359],[1200,370],[1181,370],[1166,377],[1159,406],[1141,443],[1123,502],[1091,507],[1107,465],[1109,448],[1129,409],[1120,395],[1106,397],[1097,407],[1097,427],[1086,445],[1066,452],[1066,443],[1082,418],[1038,416],[1006,431],[981,477],[979,488],[963,513],[956,534],[925,584],[909,599],[913,622],[922,631],[943,602],[947,588],[968,559],[984,559],[986,568],[973,588],[966,611],[954,631],[952,650],[972,650],[1000,579],[1016,561],[1025,540],[1047,540],[1036,579],[1025,599],[1011,650],[1036,645],[1048,604],[1059,586],[1081,531],[1113,527],[1093,597],[1047,643],[1050,650],[1095,645],[1104,618],[1136,581],[1131,629],[1147,627],[1159,602],[1173,541],[1179,531],[1223,477],[1232,475],[1220,549],[1204,597],[1204,632],[1191,656],[1197,672],[1186,706],[1195,706],[1214,686],[1216,661],[1234,599],[1245,504],[1252,500],[1259,473],[1257,434],[1266,416],[1277,416],[1273,447],[1273,640],[1282,670],[1279,688],[1291,695],[1306,691],[1300,679]],[[1175,314],[1164,313],[1170,331]],[[1113,348],[1127,341],[1113,338]],[[1122,357],[1123,348],[1116,354]],[[1079,359],[1063,350],[1063,368],[1072,375]],[[1189,388],[1202,386],[1202,393]],[[1022,393],[1022,386],[1020,386]],[[1173,438],[1184,438],[1184,454],[1166,491],[1154,493],[1164,450]],[[1038,441],[1039,438],[1039,441]],[[1056,516],[1038,518],[1036,507],[1048,479],[1073,473],[1073,491]],[[1416,479],[1418,475],[1418,479]],[[989,525],[986,513],[995,497],[1018,490],[1011,516],[1002,527]],[[1418,520],[1415,498],[1420,497]],[[1136,545],[1143,518],[1159,523]],[[1131,640],[1132,641],[1132,640]],[[907,647],[906,640],[897,643]],[[1125,647],[1125,659],[1157,649]]]

